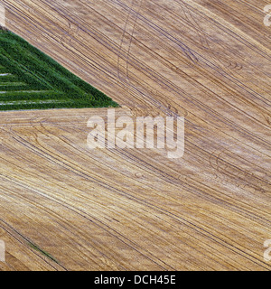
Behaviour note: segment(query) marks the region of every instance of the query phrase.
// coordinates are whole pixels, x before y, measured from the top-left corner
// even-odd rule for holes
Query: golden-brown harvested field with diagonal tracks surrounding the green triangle
[[[2,270],[270,270],[265,1],[9,0],[6,27],[185,152],[87,146],[106,108],[0,113]]]

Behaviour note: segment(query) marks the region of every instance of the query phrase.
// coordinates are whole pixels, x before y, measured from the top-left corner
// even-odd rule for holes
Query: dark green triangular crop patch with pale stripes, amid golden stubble
[[[0,110],[117,107],[21,37],[0,29]]]

